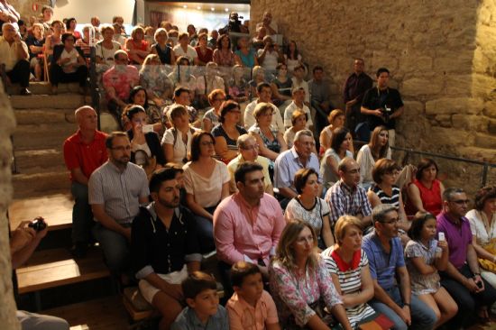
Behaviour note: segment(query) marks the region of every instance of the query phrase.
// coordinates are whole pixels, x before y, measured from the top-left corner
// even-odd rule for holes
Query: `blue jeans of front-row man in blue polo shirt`
[[[398,287],[393,287],[391,289],[385,290],[390,298],[403,307],[403,301],[400,295],[400,289]],[[403,322],[401,317],[396,314],[390,307],[386,304],[381,303],[379,300],[373,298],[369,301],[369,305],[378,313],[382,313],[387,316],[393,323],[393,329],[395,330],[407,330],[407,329],[422,329],[430,330],[434,327],[437,321],[436,314],[434,311],[428,307],[422,300],[418,299],[416,296],[411,295],[410,301],[410,316],[411,316],[411,326]]]

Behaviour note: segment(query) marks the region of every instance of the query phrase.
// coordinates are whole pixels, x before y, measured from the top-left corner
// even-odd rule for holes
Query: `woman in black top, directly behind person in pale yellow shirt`
[[[220,124],[212,130],[212,135],[216,138],[216,154],[226,164],[238,154],[238,137],[248,133],[244,127],[238,125],[240,117],[239,105],[233,100],[225,101],[220,107]]]

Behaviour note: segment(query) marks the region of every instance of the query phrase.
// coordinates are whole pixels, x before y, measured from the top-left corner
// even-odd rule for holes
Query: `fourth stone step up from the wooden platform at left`
[[[14,115],[18,126],[69,123],[77,128],[74,109],[16,109]]]

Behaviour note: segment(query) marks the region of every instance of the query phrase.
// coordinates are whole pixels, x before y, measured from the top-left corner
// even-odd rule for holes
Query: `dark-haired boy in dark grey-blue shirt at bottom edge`
[[[193,271],[182,282],[181,288],[188,307],[180,312],[171,330],[229,330],[225,308],[219,306],[214,278]]]

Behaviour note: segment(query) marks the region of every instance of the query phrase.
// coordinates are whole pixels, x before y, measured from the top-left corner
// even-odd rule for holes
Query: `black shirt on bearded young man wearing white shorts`
[[[140,207],[131,230],[135,273],[144,270],[148,274],[169,274],[181,270],[186,262],[201,261],[199,251],[195,218],[188,209],[177,207],[167,230],[155,214],[154,203]]]

